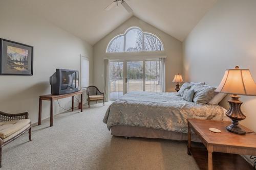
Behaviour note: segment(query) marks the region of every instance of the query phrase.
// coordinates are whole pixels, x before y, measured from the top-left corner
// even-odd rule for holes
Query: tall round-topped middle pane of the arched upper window
[[[126,33],[125,51],[142,51],[143,33],[139,29],[131,29]]]

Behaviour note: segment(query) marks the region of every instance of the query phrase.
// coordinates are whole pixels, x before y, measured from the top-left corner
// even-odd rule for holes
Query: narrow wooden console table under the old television
[[[82,91],[77,91],[74,93],[69,94],[61,94],[61,95],[54,95],[54,94],[47,94],[47,95],[40,95],[39,96],[39,112],[38,112],[38,125],[41,125],[41,116],[42,116],[42,101],[50,101],[51,102],[51,109],[50,109],[50,126],[53,126],[53,101],[63,98],[69,98],[72,96],[72,112],[74,111],[74,96],[81,94],[81,103],[82,103]],[[82,106],[81,106],[82,112]]]

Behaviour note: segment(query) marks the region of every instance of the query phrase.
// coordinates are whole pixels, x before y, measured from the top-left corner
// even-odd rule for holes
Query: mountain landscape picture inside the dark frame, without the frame
[[[8,70],[28,70],[29,51],[7,45],[7,69]]]

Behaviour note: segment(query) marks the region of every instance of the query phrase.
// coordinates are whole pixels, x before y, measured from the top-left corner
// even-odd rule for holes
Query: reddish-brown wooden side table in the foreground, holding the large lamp
[[[225,127],[230,122],[226,121],[187,119],[187,124],[187,153],[193,155],[200,169],[230,169],[230,167],[231,169],[253,169],[240,155],[236,155],[256,155],[256,134],[253,131],[241,126],[248,133],[239,135],[228,132]],[[211,132],[209,128],[217,128],[221,133]],[[207,154],[204,155],[202,149],[191,147],[191,129],[205,145]],[[214,160],[212,160],[212,153],[214,153]],[[212,162],[215,164],[212,165]]]

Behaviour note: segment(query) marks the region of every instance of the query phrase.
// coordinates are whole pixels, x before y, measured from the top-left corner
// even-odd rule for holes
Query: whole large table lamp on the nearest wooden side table
[[[246,118],[241,111],[243,102],[239,100],[240,95],[256,95],[256,84],[254,83],[249,69],[227,69],[219,87],[215,90],[221,93],[232,94],[228,100],[229,110],[226,115],[232,120],[232,124],[226,129],[232,133],[244,135],[245,131],[239,126],[239,121]]]

